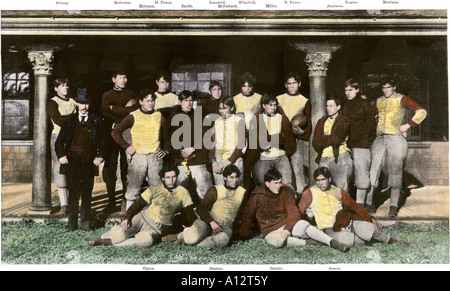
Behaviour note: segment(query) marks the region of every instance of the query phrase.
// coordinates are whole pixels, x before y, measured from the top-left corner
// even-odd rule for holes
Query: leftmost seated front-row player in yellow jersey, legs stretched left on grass
[[[173,217],[182,210],[188,225],[192,225],[196,219],[192,199],[186,188],[177,186],[178,174],[175,165],[164,165],[159,172],[162,183],[147,188],[128,208],[120,224],[90,244],[151,247],[172,232]]]

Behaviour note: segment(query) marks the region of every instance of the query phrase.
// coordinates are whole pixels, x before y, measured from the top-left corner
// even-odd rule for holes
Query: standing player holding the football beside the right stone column
[[[284,80],[286,93],[277,96],[280,108],[283,110],[284,114],[286,114],[290,122],[292,122],[293,118],[299,114],[305,115],[307,119],[304,129],[298,126],[292,126],[296,150],[295,153],[290,156],[290,160],[295,176],[295,189],[298,194],[301,194],[306,187],[305,174],[303,172],[303,166],[305,164],[303,154],[306,146],[305,142],[307,142],[311,136],[311,103],[308,98],[299,92],[302,81],[297,72],[287,73]]]

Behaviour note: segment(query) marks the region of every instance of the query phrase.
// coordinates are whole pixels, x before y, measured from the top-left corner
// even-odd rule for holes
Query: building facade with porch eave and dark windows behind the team
[[[327,95],[344,96],[347,78],[360,79],[362,93],[374,101],[381,96],[380,78],[395,75],[398,91],[429,113],[408,136],[405,171],[411,183],[448,185],[445,10],[1,13],[8,85],[2,92],[2,183],[32,182],[36,209],[49,201],[45,103],[51,81],[69,77],[72,94],[87,88],[95,111],[117,69],[129,72],[135,91],[154,86],[156,74],[166,69],[175,88],[201,93],[212,76],[220,76],[229,95],[239,90],[237,78],[245,71],[255,74],[256,91],[273,94],[284,91],[284,73],[297,71],[313,124],[325,115]],[[313,169],[315,152],[305,156]]]

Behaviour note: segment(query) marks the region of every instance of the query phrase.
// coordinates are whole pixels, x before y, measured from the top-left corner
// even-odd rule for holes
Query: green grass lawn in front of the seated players
[[[224,249],[201,249],[161,243],[151,248],[91,247],[89,241],[112,225],[93,232],[68,232],[66,223],[45,219],[2,223],[2,264],[449,264],[448,223],[396,223],[385,229],[409,239],[410,245],[353,247],[342,254],[322,246],[274,249],[261,238],[234,242]]]

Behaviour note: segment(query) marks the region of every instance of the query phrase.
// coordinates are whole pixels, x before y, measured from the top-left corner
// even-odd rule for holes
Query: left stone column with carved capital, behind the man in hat
[[[33,124],[33,172],[32,197],[30,211],[48,212],[51,201],[51,154],[48,135],[47,99],[49,94],[48,76],[52,72],[53,54],[57,49],[49,45],[37,45],[25,48],[33,64],[34,87],[34,124]]]

